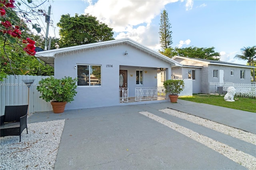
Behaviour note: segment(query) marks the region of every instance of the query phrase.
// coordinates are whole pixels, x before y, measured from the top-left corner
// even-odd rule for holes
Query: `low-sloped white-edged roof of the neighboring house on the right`
[[[208,64],[213,64],[213,65],[226,65],[226,66],[236,66],[236,67],[246,67],[246,68],[255,68],[254,66],[250,66],[250,65],[243,65],[243,64],[237,64],[237,63],[229,63],[229,62],[225,62],[225,61],[218,61],[218,60],[211,60],[211,59],[200,59],[200,58],[190,58],[190,57],[181,57],[181,56],[174,56],[172,57],[172,59],[176,59],[176,58],[180,58],[180,59],[188,59],[188,60],[192,60],[192,61],[199,61],[202,63],[208,63]]]

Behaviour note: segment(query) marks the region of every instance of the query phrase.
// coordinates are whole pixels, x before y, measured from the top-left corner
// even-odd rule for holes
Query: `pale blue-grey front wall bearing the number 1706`
[[[124,52],[128,51],[127,55]],[[115,45],[101,49],[86,49],[58,55],[54,60],[54,77],[77,76],[77,64],[101,65],[101,86],[78,86],[74,101],[65,109],[82,109],[119,105],[119,70],[128,71],[129,96],[135,96],[136,70],[144,72],[144,87],[157,86],[157,67],[168,68],[169,63],[130,45]],[[112,67],[108,67],[112,65]],[[130,67],[129,67],[130,66]],[[168,69],[167,69],[168,70]],[[170,69],[169,69],[170,70]],[[170,72],[170,71],[169,71]],[[133,75],[132,77],[130,75]],[[168,74],[166,75],[168,76]]]

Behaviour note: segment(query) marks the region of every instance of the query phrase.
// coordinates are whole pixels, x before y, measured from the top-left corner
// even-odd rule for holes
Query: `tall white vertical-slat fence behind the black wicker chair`
[[[38,81],[49,76],[33,75],[8,75],[4,81],[0,81],[0,115],[4,115],[4,107],[7,105],[28,105],[29,113],[38,111],[51,111],[52,105],[39,98],[40,93],[36,90]],[[28,88],[26,81],[33,80]],[[29,92],[29,98],[28,98]]]

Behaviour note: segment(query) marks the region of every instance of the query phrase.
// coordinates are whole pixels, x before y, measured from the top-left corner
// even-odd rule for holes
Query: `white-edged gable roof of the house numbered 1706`
[[[77,45],[72,47],[65,47],[65,48],[59,48],[59,49],[51,49],[47,51],[38,51],[36,52],[36,57],[44,61],[46,64],[51,65],[54,67],[54,58],[56,55],[61,53],[67,53],[67,52],[74,52],[79,51],[81,49],[90,49],[92,47],[107,47],[109,45],[117,45],[117,44],[127,44],[131,45],[132,47],[135,47],[137,49],[140,49],[141,51],[144,51],[154,57],[157,57],[158,59],[161,59],[163,61],[166,61],[167,63],[170,63],[171,66],[179,66],[182,67],[182,64],[178,63],[177,61],[170,59],[169,57],[166,57],[165,55],[162,55],[161,53],[158,53],[157,51],[154,51],[138,42],[135,42],[131,40],[130,38],[123,38],[118,40],[110,40],[105,42],[97,42],[97,43],[89,43],[84,45]]]

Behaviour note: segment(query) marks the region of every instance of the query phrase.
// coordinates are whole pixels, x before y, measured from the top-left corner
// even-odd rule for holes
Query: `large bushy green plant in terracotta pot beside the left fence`
[[[40,98],[46,102],[51,101],[54,113],[63,113],[66,103],[74,101],[74,96],[77,91],[75,90],[77,78],[64,77],[62,79],[55,79],[48,77],[38,82],[36,87],[37,91],[41,93]]]

